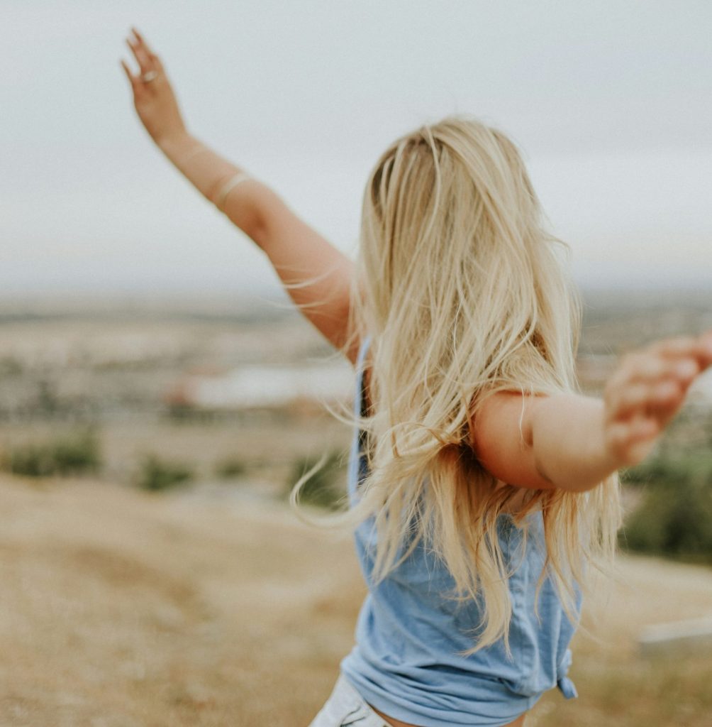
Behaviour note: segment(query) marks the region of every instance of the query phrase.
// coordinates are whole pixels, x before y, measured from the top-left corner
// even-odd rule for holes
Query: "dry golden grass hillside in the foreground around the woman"
[[[229,502],[2,475],[0,724],[306,726],[364,595],[350,538]],[[527,727],[707,727],[712,656],[647,661],[635,638],[709,614],[712,571],[625,557],[599,592],[580,698],[552,691]]]

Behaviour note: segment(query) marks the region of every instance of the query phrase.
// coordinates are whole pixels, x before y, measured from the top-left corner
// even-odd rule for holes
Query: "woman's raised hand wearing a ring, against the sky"
[[[140,73],[134,75],[124,59],[121,65],[126,71],[134,93],[134,107],[150,137],[158,144],[170,137],[185,134],[185,124],[178,102],[163,69],[163,64],[136,30],[134,37],[126,39],[139,64]]]

